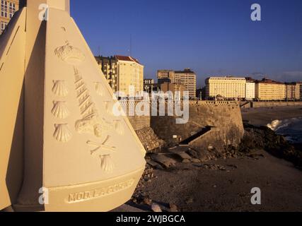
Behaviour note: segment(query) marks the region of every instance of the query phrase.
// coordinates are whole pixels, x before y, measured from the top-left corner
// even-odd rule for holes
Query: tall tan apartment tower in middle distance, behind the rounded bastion
[[[173,82],[172,82],[173,83]],[[191,69],[175,71],[174,83],[184,85],[191,98],[196,98],[196,73]]]

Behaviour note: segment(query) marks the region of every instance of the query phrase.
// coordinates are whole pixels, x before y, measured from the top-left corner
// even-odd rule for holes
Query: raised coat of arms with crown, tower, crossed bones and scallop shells
[[[78,133],[91,133],[95,136],[98,141],[87,141],[86,144],[91,146],[93,149],[90,150],[91,156],[96,156],[100,160],[100,167],[105,172],[112,172],[115,168],[115,164],[112,161],[112,153],[115,153],[116,147],[108,145],[112,134],[117,133],[122,135],[124,133],[120,120],[108,120],[105,117],[100,117],[98,109],[95,107],[95,102],[89,93],[83,76],[77,69],[76,64],[85,60],[85,56],[81,51],[75,47],[72,47],[68,41],[62,47],[55,49],[54,54],[59,59],[74,66],[74,85],[76,90],[76,98],[79,102],[79,111],[81,119],[75,122],[75,129]],[[103,97],[103,85],[99,82],[95,82],[95,93],[100,97]],[[68,94],[64,81],[54,81],[53,92],[60,97],[64,97]],[[111,101],[103,101],[105,112],[108,116],[113,116]],[[69,112],[65,108],[64,102],[54,102],[54,108],[52,114],[58,118],[66,117]],[[62,138],[58,133],[62,127],[66,133],[66,127],[59,126],[56,129],[55,137],[57,140],[62,142],[68,141],[69,133],[64,135]],[[59,131],[57,131],[59,130]],[[65,137],[66,136],[66,137]]]

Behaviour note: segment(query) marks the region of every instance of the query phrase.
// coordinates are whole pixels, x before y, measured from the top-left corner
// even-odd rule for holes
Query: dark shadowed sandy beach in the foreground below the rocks
[[[302,211],[301,171],[263,150],[237,159],[177,163],[152,174],[137,188],[145,203],[129,205],[149,211],[150,200],[163,211],[171,204],[178,211]],[[253,187],[262,191],[261,205],[250,201]]]

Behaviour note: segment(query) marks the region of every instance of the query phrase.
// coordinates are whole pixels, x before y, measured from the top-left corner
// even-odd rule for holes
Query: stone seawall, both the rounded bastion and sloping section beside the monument
[[[137,102],[132,103],[137,106]],[[128,117],[147,151],[186,141],[196,150],[236,147],[243,137],[243,120],[238,102],[190,101],[189,121],[176,124],[177,117]],[[210,128],[207,131],[207,128]],[[204,133],[203,133],[204,131]]]

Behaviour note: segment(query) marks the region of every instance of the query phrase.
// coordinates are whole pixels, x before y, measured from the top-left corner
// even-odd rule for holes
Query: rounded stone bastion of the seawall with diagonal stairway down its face
[[[176,124],[176,117],[151,117],[151,128],[168,145],[175,145],[194,137],[206,127],[211,131],[200,134],[188,143],[201,150],[223,150],[239,145],[243,137],[243,120],[238,102],[190,102],[190,119],[187,124]]]

